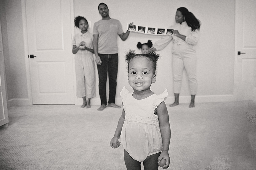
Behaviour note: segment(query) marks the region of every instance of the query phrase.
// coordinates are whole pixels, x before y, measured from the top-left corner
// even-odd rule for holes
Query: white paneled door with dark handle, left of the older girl
[[[33,104],[74,104],[70,0],[26,0]]]

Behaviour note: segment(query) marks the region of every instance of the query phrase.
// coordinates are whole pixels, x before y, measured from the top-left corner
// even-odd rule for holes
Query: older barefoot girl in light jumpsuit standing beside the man
[[[72,41],[72,52],[75,54],[76,95],[83,98],[82,108],[90,108],[90,99],[96,96],[93,35],[87,31],[88,21],[82,16],[75,17],[75,27],[81,30]]]

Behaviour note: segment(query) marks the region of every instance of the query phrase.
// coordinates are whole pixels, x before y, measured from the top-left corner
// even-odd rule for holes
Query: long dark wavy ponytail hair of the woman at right
[[[192,12],[189,12],[185,7],[180,7],[177,9],[177,11],[182,13],[182,15],[185,17],[185,21],[187,22],[188,26],[191,27],[192,31],[200,29],[201,23]]]

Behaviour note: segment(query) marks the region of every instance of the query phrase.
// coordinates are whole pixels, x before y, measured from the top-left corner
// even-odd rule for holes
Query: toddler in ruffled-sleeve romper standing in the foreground
[[[156,80],[158,58],[159,54],[155,52],[135,54],[130,51],[126,54],[128,82],[133,92],[129,92],[125,87],[120,92],[123,113],[110,146],[118,148],[122,143],[128,170],[140,170],[141,162],[145,169],[157,170],[161,159],[166,162],[161,165],[163,169],[168,168],[170,164],[168,150],[171,131],[164,103],[168,92],[165,90],[156,95],[150,90],[151,84]]]

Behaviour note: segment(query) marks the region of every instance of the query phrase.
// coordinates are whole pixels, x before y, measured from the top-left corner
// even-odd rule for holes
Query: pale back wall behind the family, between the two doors
[[[197,96],[232,95],[234,78],[234,48],[235,48],[235,1],[201,1],[201,0],[105,0],[89,1],[74,0],[74,16],[84,16],[93,23],[101,19],[98,13],[99,3],[108,5],[111,18],[118,19],[123,30],[127,23],[134,22],[142,26],[168,28],[175,22],[175,12],[179,7],[186,7],[202,23],[200,40],[197,45]],[[93,28],[89,31],[92,33]],[[77,32],[77,30],[76,30]],[[126,41],[118,38],[119,72],[117,78],[117,97],[127,83],[127,71],[124,61],[127,49],[136,49],[137,42],[159,40],[161,36],[131,32]],[[162,51],[158,61],[157,80],[152,90],[159,94],[165,88],[169,91],[169,99],[173,98],[171,44]],[[184,76],[186,76],[184,74]],[[183,79],[181,96],[190,96],[187,79]],[[99,97],[97,95],[97,97]],[[189,97],[183,102],[188,102]],[[202,99],[203,100],[203,99]],[[197,100],[198,101],[198,100]],[[170,102],[167,100],[166,102]],[[181,101],[182,102],[182,101]]]

